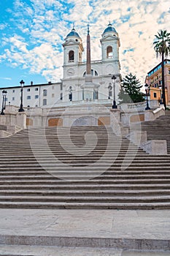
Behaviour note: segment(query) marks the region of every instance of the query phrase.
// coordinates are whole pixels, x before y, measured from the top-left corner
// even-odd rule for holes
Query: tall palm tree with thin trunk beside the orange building
[[[156,56],[162,57],[161,67],[162,67],[162,97],[163,97],[163,105],[166,110],[166,94],[165,94],[165,78],[164,78],[164,58],[168,57],[170,54],[170,33],[166,30],[161,30],[158,34],[155,34],[156,41],[153,42],[154,50],[156,52]]]

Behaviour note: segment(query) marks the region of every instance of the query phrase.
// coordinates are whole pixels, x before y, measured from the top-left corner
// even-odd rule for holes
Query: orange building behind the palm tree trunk
[[[166,104],[170,105],[170,60],[164,60],[164,74],[165,74],[165,94]],[[162,91],[160,86],[162,85],[162,68],[161,63],[154,67],[147,73],[145,83],[150,86],[150,99],[162,100]]]

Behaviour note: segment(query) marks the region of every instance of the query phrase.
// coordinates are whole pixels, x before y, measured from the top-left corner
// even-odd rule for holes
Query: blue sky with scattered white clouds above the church
[[[120,37],[121,74],[144,83],[159,63],[152,42],[170,32],[169,0],[1,0],[0,87],[60,81],[66,34],[75,29],[85,48],[90,24],[91,59],[101,59],[101,34],[109,21]],[[85,53],[84,53],[85,60]]]

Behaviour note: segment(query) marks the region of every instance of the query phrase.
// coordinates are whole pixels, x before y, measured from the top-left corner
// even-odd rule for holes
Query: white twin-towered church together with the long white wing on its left
[[[63,42],[63,79],[61,83],[46,83],[23,86],[23,108],[49,108],[64,105],[82,104],[92,101],[112,102],[112,75],[115,75],[115,99],[120,91],[120,39],[117,31],[109,23],[101,35],[101,60],[91,61],[93,83],[98,84],[90,99],[85,98],[83,83],[85,83],[86,62],[82,62],[84,51],[82,39],[73,28]],[[93,50],[92,50],[93,55]],[[7,91],[7,105],[20,106],[20,86],[1,88]],[[0,104],[1,104],[0,97]]]

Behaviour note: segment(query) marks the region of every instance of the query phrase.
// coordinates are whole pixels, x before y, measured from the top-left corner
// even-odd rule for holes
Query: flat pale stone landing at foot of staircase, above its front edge
[[[1,235],[170,239],[170,210],[0,209]]]

